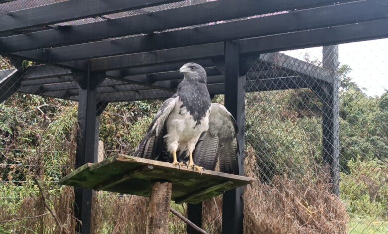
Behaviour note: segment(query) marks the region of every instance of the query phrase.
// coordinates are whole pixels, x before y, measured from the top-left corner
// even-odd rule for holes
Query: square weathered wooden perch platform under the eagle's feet
[[[150,196],[153,182],[172,183],[171,200],[195,204],[250,184],[253,179],[209,170],[200,174],[167,162],[120,155],[87,163],[59,181],[62,185],[144,197]]]

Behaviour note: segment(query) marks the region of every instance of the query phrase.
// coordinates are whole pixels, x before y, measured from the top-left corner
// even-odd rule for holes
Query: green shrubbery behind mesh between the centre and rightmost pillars
[[[316,109],[309,109],[319,104],[312,104],[314,96],[303,92],[248,94],[246,141],[258,155],[264,181],[275,175],[304,175],[314,168],[314,159],[320,160],[321,120]]]

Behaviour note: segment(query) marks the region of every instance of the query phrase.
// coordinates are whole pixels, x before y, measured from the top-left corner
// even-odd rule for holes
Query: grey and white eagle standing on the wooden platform
[[[179,70],[183,81],[152,120],[134,156],[167,161],[195,171],[238,170],[238,126],[220,104],[211,103],[206,71],[196,63]],[[178,159],[180,161],[178,161]]]

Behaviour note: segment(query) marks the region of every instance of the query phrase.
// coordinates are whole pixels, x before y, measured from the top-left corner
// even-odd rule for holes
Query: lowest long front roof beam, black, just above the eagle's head
[[[263,36],[240,40],[242,55],[252,53],[271,53],[282,50],[331,45],[379,39],[388,37],[388,19],[341,25],[330,28],[291,32],[279,35]],[[116,70],[136,66],[152,66],[162,63],[188,62],[193,59],[205,59],[223,56],[223,43],[211,43],[154,51],[153,53],[138,53],[120,55],[109,58],[93,59],[91,69]],[[66,63],[78,66],[82,61]]]

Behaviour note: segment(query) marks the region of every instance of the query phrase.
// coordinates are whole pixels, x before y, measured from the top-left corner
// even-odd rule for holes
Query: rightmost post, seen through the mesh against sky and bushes
[[[332,84],[322,83],[317,91],[323,102],[323,162],[328,165],[332,192],[339,195],[339,97],[338,97],[338,45],[324,46],[322,64],[333,73]]]

